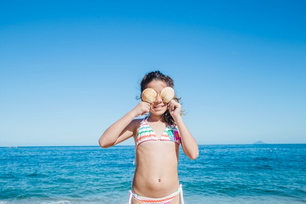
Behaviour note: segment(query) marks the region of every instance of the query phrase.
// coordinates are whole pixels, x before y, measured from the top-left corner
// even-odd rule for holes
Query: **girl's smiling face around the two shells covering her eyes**
[[[163,81],[153,80],[152,82],[147,84],[147,88],[151,88],[156,91],[157,96],[155,98],[155,102],[151,104],[150,113],[156,115],[164,114],[168,109],[168,104],[164,103],[162,98],[160,97],[160,91],[167,87],[167,84]]]

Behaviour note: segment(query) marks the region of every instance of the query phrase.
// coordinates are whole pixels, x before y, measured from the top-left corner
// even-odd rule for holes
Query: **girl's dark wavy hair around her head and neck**
[[[141,93],[142,91],[144,91],[145,89],[147,89],[147,85],[152,82],[153,80],[155,81],[163,81],[167,84],[168,87],[171,87],[174,89],[174,82],[173,79],[163,73],[161,73],[160,71],[152,71],[152,72],[147,72],[145,74],[145,76],[142,78],[141,82],[140,82],[140,97],[136,96],[136,99],[140,99],[141,98]],[[179,100],[181,98],[178,98],[175,94],[174,100],[176,102],[179,103]],[[183,114],[184,111],[181,111],[181,115],[185,115]],[[164,122],[173,124],[174,126],[176,126],[175,124],[175,120],[173,119],[173,117],[171,116],[171,114],[169,113],[169,110],[167,110],[163,115],[162,115],[162,120]]]

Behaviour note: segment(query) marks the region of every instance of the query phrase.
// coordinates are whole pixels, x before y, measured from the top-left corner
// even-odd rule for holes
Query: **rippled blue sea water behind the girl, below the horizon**
[[[0,148],[0,204],[127,204],[133,146]],[[181,147],[185,204],[305,204],[306,144]]]

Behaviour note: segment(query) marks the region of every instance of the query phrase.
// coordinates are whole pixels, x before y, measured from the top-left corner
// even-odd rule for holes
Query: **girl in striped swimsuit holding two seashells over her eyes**
[[[184,204],[177,174],[179,144],[187,157],[196,159],[197,142],[184,124],[178,98],[165,103],[160,96],[165,87],[174,88],[169,76],[160,71],[147,73],[140,87],[141,92],[147,88],[156,91],[155,101],[141,101],[104,132],[99,144],[108,148],[133,136],[136,169],[129,204]]]

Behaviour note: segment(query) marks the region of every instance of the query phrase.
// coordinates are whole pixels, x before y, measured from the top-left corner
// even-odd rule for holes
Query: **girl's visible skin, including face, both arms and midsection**
[[[197,142],[190,134],[180,115],[181,105],[174,99],[168,104],[160,97],[160,91],[167,87],[163,81],[153,80],[145,88],[152,88],[157,92],[152,104],[141,101],[134,109],[112,124],[100,137],[99,144],[103,148],[114,146],[130,137],[136,145],[137,133],[142,119],[134,119],[150,112],[148,123],[157,138],[164,133],[167,125],[162,121],[162,114],[169,109],[169,113],[179,131],[182,149],[187,157],[198,157]],[[136,148],[136,168],[132,190],[134,193],[150,198],[166,197],[179,187],[177,163],[179,145],[173,141],[149,140],[140,143]],[[143,204],[132,197],[132,204]],[[180,195],[177,194],[170,204],[179,204]]]

